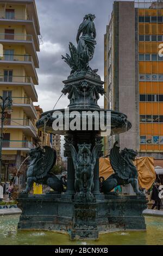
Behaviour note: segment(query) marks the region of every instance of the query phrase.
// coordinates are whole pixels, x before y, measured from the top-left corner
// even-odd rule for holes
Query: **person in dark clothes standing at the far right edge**
[[[153,185],[152,188],[152,195],[151,199],[154,200],[154,204],[152,205],[152,209],[155,207],[160,210],[161,208],[161,199],[159,198],[159,187],[160,187],[160,179],[156,179],[155,184]]]

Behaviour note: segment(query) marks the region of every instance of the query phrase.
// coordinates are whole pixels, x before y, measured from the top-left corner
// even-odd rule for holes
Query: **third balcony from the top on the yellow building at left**
[[[0,57],[0,64],[23,65],[24,69],[26,70],[27,76],[32,76],[35,84],[39,83],[33,58],[28,54],[25,54],[25,55],[4,54],[3,57]]]

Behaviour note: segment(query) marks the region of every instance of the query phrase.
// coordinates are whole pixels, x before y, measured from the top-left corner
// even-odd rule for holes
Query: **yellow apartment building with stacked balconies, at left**
[[[6,114],[2,145],[2,174],[10,179],[12,168],[17,168],[28,151],[35,147],[40,50],[39,21],[34,0],[0,1],[0,95],[11,96],[13,111]],[[6,172],[6,166],[10,173]]]

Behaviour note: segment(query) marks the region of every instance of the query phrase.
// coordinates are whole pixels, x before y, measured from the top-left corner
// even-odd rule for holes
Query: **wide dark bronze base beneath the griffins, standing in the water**
[[[145,230],[145,196],[105,195],[96,203],[64,200],[61,194],[20,194],[22,210],[19,230],[53,230],[70,234],[71,239],[98,239],[98,233],[118,230]]]

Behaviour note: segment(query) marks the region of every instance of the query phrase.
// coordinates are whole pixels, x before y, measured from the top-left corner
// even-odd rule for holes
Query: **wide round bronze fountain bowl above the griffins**
[[[79,124],[77,121],[78,130],[70,129],[70,123],[74,117],[77,117],[77,120],[80,122]],[[85,119],[86,117],[87,119]],[[58,126],[58,130],[54,130],[53,122],[59,120],[58,118],[60,118],[61,125]],[[92,120],[91,129],[88,125],[88,119]],[[103,120],[103,125],[107,126],[110,130],[110,134],[107,134],[106,136],[123,133],[131,128],[131,123],[127,120],[127,115],[102,108],[67,108],[66,111],[65,109],[57,109],[44,112],[42,113],[40,120],[37,121],[36,127],[44,132],[58,135],[66,135],[67,133],[74,133],[76,131],[97,131],[97,133],[101,133],[103,132],[101,129],[101,120]],[[99,126],[97,126],[97,123]]]

